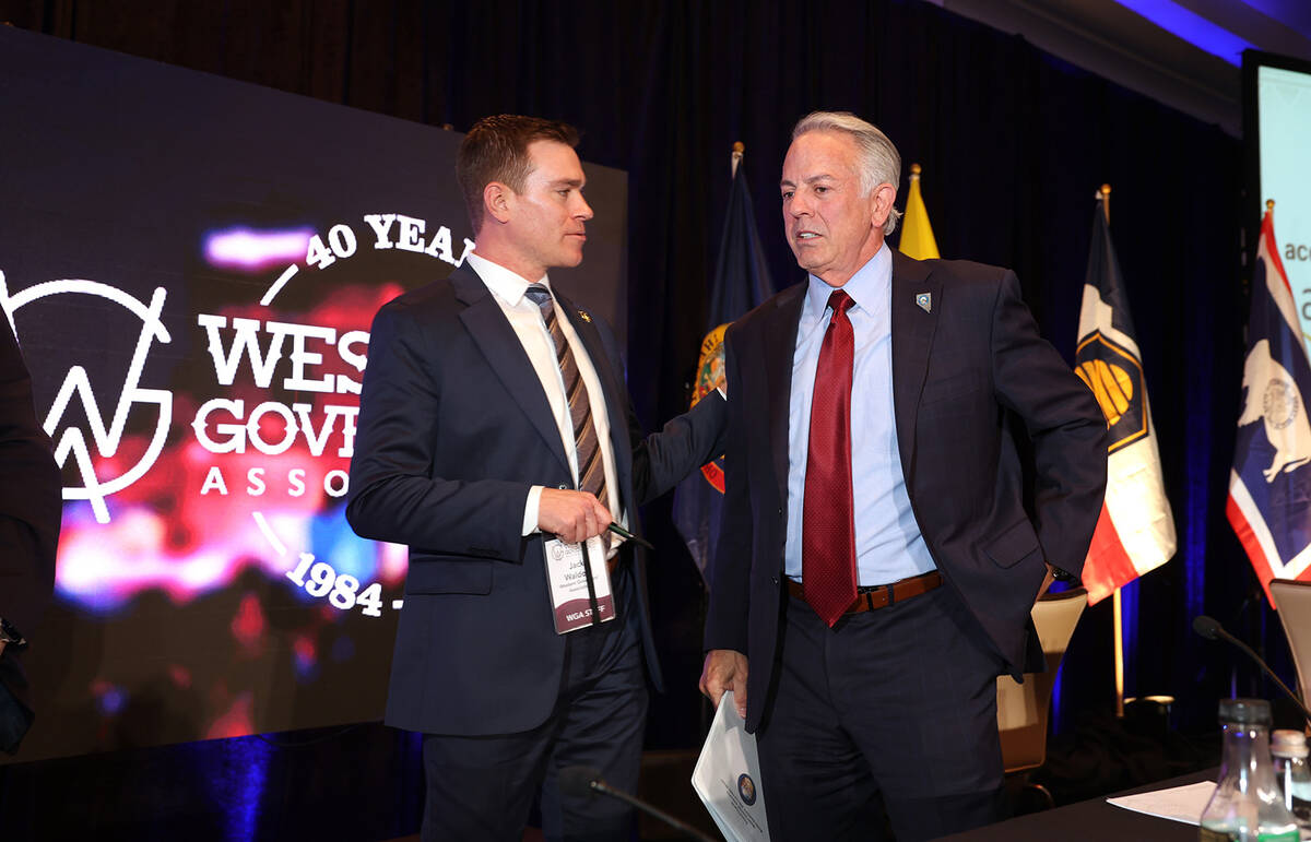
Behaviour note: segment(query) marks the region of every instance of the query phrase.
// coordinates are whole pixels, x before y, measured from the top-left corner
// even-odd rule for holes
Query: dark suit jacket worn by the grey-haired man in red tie
[[[705,648],[747,656],[753,731],[777,649],[788,401],[805,289],[763,303],[725,340],[728,485]],[[916,304],[924,292],[927,311]],[[1106,483],[1105,418],[1038,334],[1009,270],[894,251],[891,340],[898,447],[924,540],[1007,669],[1036,668],[1041,649],[1029,610],[1045,561],[1083,569]],[[1032,462],[1021,460],[1011,434],[1017,422]],[[1025,462],[1034,473],[1032,511]]]

